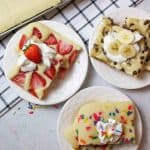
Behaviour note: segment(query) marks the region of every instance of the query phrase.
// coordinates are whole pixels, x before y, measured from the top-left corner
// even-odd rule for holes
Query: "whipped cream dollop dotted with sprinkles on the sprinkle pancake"
[[[115,143],[123,133],[123,125],[111,118],[107,122],[98,121],[96,129],[101,144]]]

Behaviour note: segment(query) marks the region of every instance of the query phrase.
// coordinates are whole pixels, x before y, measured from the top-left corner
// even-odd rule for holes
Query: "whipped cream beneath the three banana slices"
[[[141,40],[143,38],[143,36],[137,31],[133,32],[133,35],[134,35],[134,40],[132,42],[132,45],[135,48],[136,52],[139,52],[140,46],[136,42]],[[109,52],[109,46],[111,45],[111,43],[113,43],[117,39],[118,39],[118,33],[117,32],[109,32],[104,37],[104,51],[106,53],[106,56],[110,60],[112,60],[114,62],[122,63],[122,62],[126,61],[127,58],[123,57],[121,54],[113,55],[112,53]]]

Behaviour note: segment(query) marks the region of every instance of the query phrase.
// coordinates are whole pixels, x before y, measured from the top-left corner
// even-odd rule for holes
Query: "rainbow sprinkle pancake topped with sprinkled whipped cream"
[[[65,130],[74,149],[113,144],[134,144],[135,110],[131,101],[91,102],[83,105]]]

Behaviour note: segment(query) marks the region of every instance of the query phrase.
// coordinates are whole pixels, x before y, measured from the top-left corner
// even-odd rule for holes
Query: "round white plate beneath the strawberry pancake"
[[[74,65],[68,70],[66,76],[63,80],[56,80],[53,82],[52,87],[49,90],[48,96],[43,100],[39,100],[36,97],[30,95],[25,90],[18,87],[16,84],[11,82],[9,79],[10,86],[15,89],[15,91],[27,101],[30,101],[39,105],[52,105],[56,103],[63,102],[71,97],[84,82],[88,70],[88,54],[84,43],[81,38],[73,31],[71,28],[67,27],[62,23],[58,23],[55,21],[40,21],[41,23],[46,24],[47,26],[55,29],[57,32],[64,34],[68,38],[74,40],[76,43],[82,46],[83,50],[79,54]],[[19,40],[19,35],[22,30],[18,31],[8,42],[4,62],[3,69],[5,75],[7,77],[8,72],[13,68],[16,64],[17,53],[15,51],[16,42]]]

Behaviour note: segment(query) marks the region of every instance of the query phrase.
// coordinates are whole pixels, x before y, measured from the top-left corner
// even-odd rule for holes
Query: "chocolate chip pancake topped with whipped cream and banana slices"
[[[97,30],[90,55],[128,75],[140,77],[149,52],[146,35],[130,26],[121,27],[111,18],[103,18]]]

